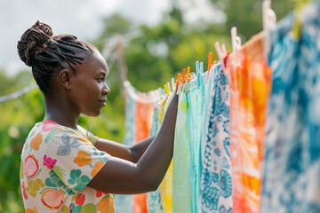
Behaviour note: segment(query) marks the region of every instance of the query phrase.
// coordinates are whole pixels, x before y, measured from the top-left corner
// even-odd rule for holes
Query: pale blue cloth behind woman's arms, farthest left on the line
[[[136,103],[130,96],[129,92],[126,92],[125,96],[125,121],[124,121],[124,145],[131,146],[135,141],[136,128],[135,128],[135,114]],[[115,194],[115,209],[116,213],[131,213],[133,211],[133,196]]]

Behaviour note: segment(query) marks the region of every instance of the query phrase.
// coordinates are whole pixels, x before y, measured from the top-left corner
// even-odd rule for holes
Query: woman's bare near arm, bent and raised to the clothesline
[[[172,160],[178,95],[174,95],[156,137],[137,163],[111,157],[88,186],[105,193],[146,193],[156,190]]]

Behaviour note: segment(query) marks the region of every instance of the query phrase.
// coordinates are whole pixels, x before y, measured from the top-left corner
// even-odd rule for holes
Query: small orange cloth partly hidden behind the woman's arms
[[[137,102],[136,110],[136,143],[138,143],[149,136],[155,107]],[[133,213],[148,213],[147,193],[133,196]]]

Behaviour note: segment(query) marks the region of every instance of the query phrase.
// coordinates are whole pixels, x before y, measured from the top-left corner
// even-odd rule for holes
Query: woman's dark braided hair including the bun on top
[[[50,78],[59,75],[60,70],[82,64],[84,54],[96,49],[91,43],[78,40],[76,36],[52,36],[49,25],[36,21],[36,24],[21,36],[17,48],[20,59],[32,67],[32,75],[44,94],[51,94]]]

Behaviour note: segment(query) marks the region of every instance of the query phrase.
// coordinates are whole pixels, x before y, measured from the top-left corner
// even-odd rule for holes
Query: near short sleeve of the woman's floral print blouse
[[[108,162],[110,155],[95,148],[76,130],[56,130],[48,142],[45,159],[54,162],[52,170],[74,193],[80,193]]]

